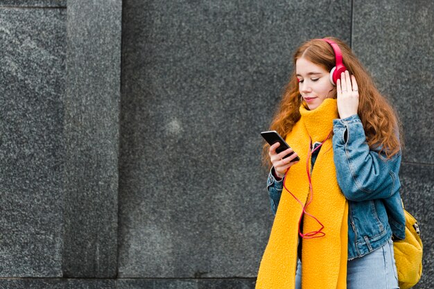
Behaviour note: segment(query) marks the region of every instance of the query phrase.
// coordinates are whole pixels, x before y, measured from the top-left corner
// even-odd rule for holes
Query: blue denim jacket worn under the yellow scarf
[[[348,259],[383,246],[392,237],[405,238],[406,220],[399,195],[401,152],[385,159],[370,150],[358,115],[333,120],[336,177],[348,200]],[[315,162],[315,156],[312,158]],[[312,166],[313,168],[313,166]],[[268,194],[276,213],[283,180],[268,175]]]

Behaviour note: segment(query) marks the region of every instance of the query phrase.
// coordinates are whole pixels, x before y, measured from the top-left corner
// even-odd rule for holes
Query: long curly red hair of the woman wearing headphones
[[[350,74],[356,77],[359,94],[358,116],[365,130],[367,144],[372,150],[379,150],[381,155],[390,159],[401,150],[402,146],[402,141],[400,142],[400,139],[402,140],[401,123],[399,123],[396,112],[376,89],[370,74],[358,61],[349,46],[336,37],[327,38],[338,44],[345,67]],[[270,130],[276,130],[284,139],[301,117],[299,111],[302,104],[301,95],[295,76],[295,62],[299,58],[305,58],[326,71],[330,71],[335,66],[333,49],[330,44],[323,40],[309,40],[295,51],[294,70],[270,125]],[[333,94],[333,98],[336,98],[336,89],[333,90]],[[270,165],[269,147],[268,143],[263,146],[263,162],[268,166]]]

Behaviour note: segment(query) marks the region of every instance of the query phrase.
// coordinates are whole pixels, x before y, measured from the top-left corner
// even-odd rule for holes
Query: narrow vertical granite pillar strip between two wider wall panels
[[[116,276],[121,4],[68,1],[64,277]]]

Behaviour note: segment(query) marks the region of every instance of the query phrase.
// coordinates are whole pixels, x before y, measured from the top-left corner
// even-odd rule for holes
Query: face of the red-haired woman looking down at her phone
[[[313,64],[306,58],[295,62],[295,71],[299,80],[300,94],[306,101],[309,110],[315,110],[326,98],[333,98],[334,86],[329,80],[330,73]]]

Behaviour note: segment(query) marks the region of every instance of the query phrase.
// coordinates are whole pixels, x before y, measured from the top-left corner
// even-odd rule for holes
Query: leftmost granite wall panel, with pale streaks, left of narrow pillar
[[[66,17],[0,8],[0,277],[62,276]]]

